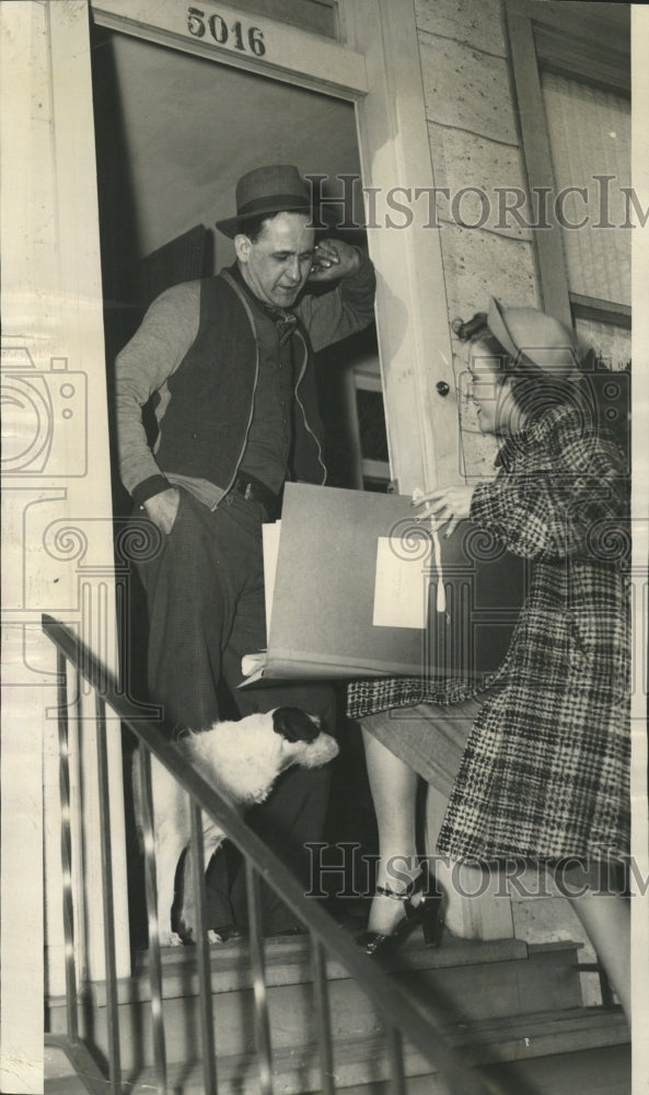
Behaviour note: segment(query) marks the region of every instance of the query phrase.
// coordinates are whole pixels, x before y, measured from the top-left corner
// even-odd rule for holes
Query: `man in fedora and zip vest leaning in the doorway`
[[[139,569],[150,698],[172,734],[218,719],[224,692],[241,716],[287,704],[334,729],[325,687],[237,689],[242,656],[266,645],[262,526],[277,518],[287,479],[326,477],[313,351],[373,318],[370,261],[338,240],[315,247],[311,221],[297,168],[248,172],[236,186],[236,216],[217,223],[234,240],[236,263],[163,292],[117,358],[121,477],[163,538]],[[302,295],[308,280],[331,291]],[[151,396],[153,451],[142,424]],[[294,769],[248,816],[297,871],[305,868],[304,843],[320,839],[327,791],[326,769]],[[240,890],[235,884],[236,919]],[[232,920],[227,902],[211,920]],[[290,920],[267,902],[269,934]]]

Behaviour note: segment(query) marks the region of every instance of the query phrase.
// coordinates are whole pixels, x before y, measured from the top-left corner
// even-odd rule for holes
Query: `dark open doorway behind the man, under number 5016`
[[[331,198],[345,195],[337,176],[355,178],[352,223],[362,223],[362,195],[350,102],[100,27],[93,30],[92,47],[111,391],[114,359],[151,301],[171,285],[209,277],[234,262],[232,241],[216,230],[215,221],[234,211],[235,185],[246,171],[264,163],[294,163],[302,174],[326,176],[322,188]],[[344,220],[341,205],[331,208],[334,221]],[[326,234],[366,244],[364,232],[355,227]],[[387,441],[373,326],[320,354],[316,370],[328,483],[386,489]],[[118,481],[115,451],[112,466],[119,522],[132,503]],[[129,586],[132,622],[124,635],[121,664],[137,699],[146,691],[146,608],[138,584]],[[132,742],[125,740],[126,788],[131,754]],[[329,840],[352,837],[373,850],[358,735],[346,736],[343,759],[334,776]],[[131,865],[135,861],[129,871],[131,938],[137,945],[143,929],[137,910],[143,902],[130,795],[126,797],[128,860]]]

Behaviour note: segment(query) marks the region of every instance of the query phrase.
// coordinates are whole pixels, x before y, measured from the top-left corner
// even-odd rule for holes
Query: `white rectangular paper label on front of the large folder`
[[[421,558],[404,558],[401,540],[379,537],[374,580],[375,627],[426,626],[428,575]]]

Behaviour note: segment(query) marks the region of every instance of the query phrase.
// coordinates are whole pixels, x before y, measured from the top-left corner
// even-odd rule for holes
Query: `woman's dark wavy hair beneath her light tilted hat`
[[[476,312],[467,320],[453,320],[451,328],[460,342],[482,343],[495,358],[497,382],[511,380],[511,394],[528,423],[540,418],[553,406],[579,403],[578,387],[573,381],[557,380],[541,369],[524,351],[514,359],[491,333],[486,312]]]

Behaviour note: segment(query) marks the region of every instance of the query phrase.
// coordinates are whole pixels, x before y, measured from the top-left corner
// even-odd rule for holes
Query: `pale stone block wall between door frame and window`
[[[434,185],[450,191],[438,196],[449,321],[485,310],[491,295],[538,307],[531,233],[499,217],[495,189],[525,186],[500,0],[415,0],[415,10]],[[488,216],[463,187],[487,195]],[[457,379],[465,348],[455,338],[453,366]],[[461,423],[466,473],[490,475],[495,442],[473,405],[461,405]]]

